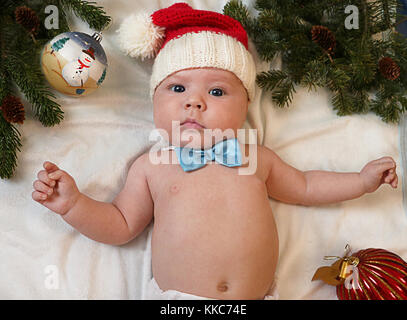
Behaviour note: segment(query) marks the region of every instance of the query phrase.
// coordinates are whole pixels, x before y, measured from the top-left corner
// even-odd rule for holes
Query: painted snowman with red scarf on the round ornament
[[[67,63],[62,69],[62,77],[72,87],[83,87],[89,78],[89,68],[95,60],[95,51],[92,47],[82,50],[81,55]]]

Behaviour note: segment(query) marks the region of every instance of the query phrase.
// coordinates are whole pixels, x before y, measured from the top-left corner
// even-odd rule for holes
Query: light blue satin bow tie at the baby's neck
[[[175,147],[175,153],[184,171],[202,168],[207,161],[216,161],[227,167],[242,165],[242,154],[236,138],[223,140],[206,150]]]

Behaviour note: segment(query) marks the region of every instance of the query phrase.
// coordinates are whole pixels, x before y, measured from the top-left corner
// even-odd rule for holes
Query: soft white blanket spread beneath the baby
[[[97,1],[113,18],[101,43],[109,62],[102,87],[81,98],[58,95],[65,112],[59,126],[45,128],[29,113],[19,127],[23,148],[16,174],[0,181],[0,298],[143,298],[151,276],[151,224],[124,246],[100,244],[34,202],[31,192],[45,160],[68,171],[80,190],[94,199],[111,201],[123,187],[131,163],[152,145],[148,97],[152,61],[124,56],[116,30],[131,12],[151,13],[173,2]],[[187,2],[218,12],[226,3]],[[250,7],[253,2],[246,1]],[[93,33],[75,18],[71,30]],[[268,69],[255,58],[258,71]],[[276,285],[282,299],[336,299],[334,287],[311,278],[319,266],[332,263],[324,261],[324,255],[341,255],[346,244],[353,251],[384,248],[407,259],[398,126],[372,114],[338,117],[329,92],[297,88],[286,109],[277,109],[270,95],[257,89],[245,127],[258,129],[260,144],[301,170],[359,171],[385,155],[398,164],[397,190],[386,185],[359,199],[322,207],[270,200],[280,238]]]

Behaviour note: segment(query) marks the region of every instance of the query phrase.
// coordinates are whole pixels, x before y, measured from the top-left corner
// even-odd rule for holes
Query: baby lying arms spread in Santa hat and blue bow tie
[[[230,17],[186,4],[150,18],[165,28],[151,78],[154,123],[173,148],[136,159],[112,203],[82,194],[48,161],[32,198],[108,244],[131,241],[154,219],[149,299],[272,299],[279,243],[269,197],[305,206],[354,199],[383,183],[396,188],[396,164],[384,157],[360,173],[302,172],[256,146],[255,172],[239,174],[248,145],[235,138],[255,84],[244,29]],[[174,127],[190,139],[174,138]],[[208,142],[203,137],[210,129],[226,134]],[[183,156],[190,151],[206,164]],[[221,156],[213,161],[213,154]],[[154,157],[172,160],[157,164]]]

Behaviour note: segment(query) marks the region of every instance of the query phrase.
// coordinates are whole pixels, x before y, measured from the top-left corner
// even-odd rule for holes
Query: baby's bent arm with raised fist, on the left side
[[[153,217],[144,158],[132,164],[124,188],[112,203],[82,194],[74,179],[50,162],[45,162],[45,170],[39,172],[32,197],[85,236],[103,243],[124,244],[142,232]]]

